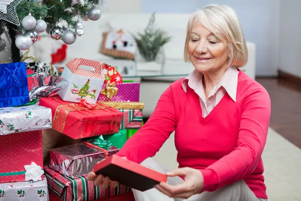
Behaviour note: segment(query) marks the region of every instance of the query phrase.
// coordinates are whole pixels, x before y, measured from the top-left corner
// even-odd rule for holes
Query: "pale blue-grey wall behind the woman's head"
[[[231,6],[238,14],[246,40],[256,44],[256,75],[274,76],[277,74],[280,0],[141,1],[142,12],[144,13],[154,11],[159,13],[193,13],[198,8],[203,8],[213,2]],[[283,4],[284,2],[286,1],[283,1]],[[183,29],[186,28],[183,27]]]

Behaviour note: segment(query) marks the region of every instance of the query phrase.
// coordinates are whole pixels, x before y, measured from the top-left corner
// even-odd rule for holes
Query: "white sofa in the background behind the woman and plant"
[[[102,14],[98,21],[83,22],[84,35],[77,37],[74,44],[70,45],[67,49],[67,59],[60,65],[64,65],[67,61],[74,57],[88,58],[98,60],[110,65],[125,65],[135,66],[142,69],[143,63],[137,59],[136,63],[131,60],[114,60],[109,56],[99,53],[100,44],[102,41],[102,33],[109,30],[123,29],[125,32],[136,33],[143,31],[146,27],[151,14]],[[156,24],[172,36],[171,42],[167,43],[164,47],[165,64],[173,70],[176,68],[187,68],[187,73],[191,72],[194,68],[192,64],[185,63],[183,59],[183,51],[186,37],[186,26],[190,14],[156,14]],[[46,34],[46,33],[45,33]],[[49,63],[51,61],[49,55],[53,49],[56,49],[62,44],[62,41],[54,41],[52,39],[43,38],[33,45],[30,52],[43,62]],[[244,67],[245,72],[252,78],[255,77],[255,44],[247,42],[249,51],[249,60]],[[151,67],[158,69],[158,65]],[[149,68],[149,67],[148,67]],[[144,68],[145,70],[145,68]],[[162,92],[170,85],[172,81],[181,77],[151,77],[151,78],[135,78],[136,81],[141,82],[140,87],[140,101],[144,102],[145,109],[143,112],[144,117],[149,117],[154,111],[157,101]],[[125,78],[126,79],[126,78]],[[128,78],[133,79],[133,78]]]

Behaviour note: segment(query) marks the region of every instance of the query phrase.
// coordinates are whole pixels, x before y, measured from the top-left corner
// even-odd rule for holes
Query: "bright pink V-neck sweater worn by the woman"
[[[179,167],[199,169],[203,191],[244,179],[258,198],[267,198],[261,154],[270,119],[267,91],[242,71],[236,102],[226,93],[205,118],[199,96],[178,80],[162,94],[147,123],[117,153],[142,162],[153,157],[175,131]]]

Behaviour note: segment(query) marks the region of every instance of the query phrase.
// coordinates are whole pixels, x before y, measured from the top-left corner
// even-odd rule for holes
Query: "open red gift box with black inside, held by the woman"
[[[140,191],[151,189],[154,185],[167,181],[167,175],[117,155],[109,156],[97,163],[93,171],[97,175],[109,176],[112,180]]]

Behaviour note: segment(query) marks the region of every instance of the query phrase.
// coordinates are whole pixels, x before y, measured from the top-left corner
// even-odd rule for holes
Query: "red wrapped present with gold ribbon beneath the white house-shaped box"
[[[101,103],[68,103],[59,96],[42,97],[40,105],[52,110],[52,128],[73,139],[118,133],[123,117]]]

